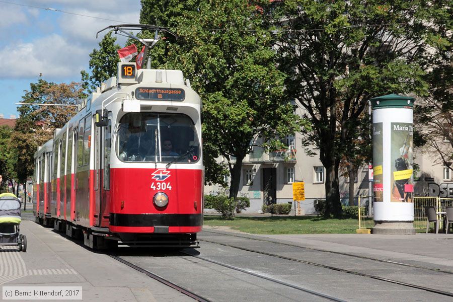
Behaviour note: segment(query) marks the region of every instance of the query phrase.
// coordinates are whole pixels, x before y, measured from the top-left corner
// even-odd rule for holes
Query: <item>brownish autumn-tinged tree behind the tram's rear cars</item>
[[[30,84],[22,103],[75,105],[82,94],[79,83],[55,84],[41,78]],[[76,107],[22,105],[20,117],[11,134],[13,152],[17,154],[16,176],[26,183],[34,170],[34,154],[38,146],[52,138],[53,131],[61,128],[77,112]]]

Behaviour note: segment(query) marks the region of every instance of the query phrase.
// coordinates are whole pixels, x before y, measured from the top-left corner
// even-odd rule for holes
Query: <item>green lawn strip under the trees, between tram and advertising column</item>
[[[353,234],[358,228],[358,221],[316,216],[235,217],[228,220],[204,215],[204,225],[229,226],[251,234]]]

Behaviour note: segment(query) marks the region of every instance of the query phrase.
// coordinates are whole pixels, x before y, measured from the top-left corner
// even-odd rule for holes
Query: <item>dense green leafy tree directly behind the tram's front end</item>
[[[204,155],[228,160],[230,197],[238,194],[243,159],[258,138],[277,147],[278,137],[300,127],[283,94],[285,74],[276,67],[272,24],[264,14],[270,3],[256,4],[142,0],[140,13],[141,23],[169,27],[179,35],[176,43],[156,45],[153,66],[183,70],[201,95]]]

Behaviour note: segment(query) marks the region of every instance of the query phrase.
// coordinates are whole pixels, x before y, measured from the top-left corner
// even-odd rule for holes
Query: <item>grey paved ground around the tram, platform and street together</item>
[[[27,253],[20,253],[14,248],[0,250],[0,286],[82,286],[85,301],[193,300],[114,260],[109,253],[93,252],[81,242],[29,220],[34,220],[32,213],[23,213],[21,232],[27,235]],[[453,234],[258,236],[205,228],[198,238],[200,248],[185,249],[187,254],[130,248],[120,248],[111,254],[211,301],[326,300],[244,271],[346,301],[453,300],[453,297],[426,290],[281,258],[289,257],[452,292],[453,255],[450,251]],[[2,266],[9,265],[7,263],[11,261],[18,269],[15,272],[2,271]]]

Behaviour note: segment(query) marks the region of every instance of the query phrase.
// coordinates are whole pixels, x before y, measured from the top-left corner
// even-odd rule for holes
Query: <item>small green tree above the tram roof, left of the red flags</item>
[[[91,75],[82,70],[83,88],[91,93],[96,91],[101,83],[114,77],[117,73],[117,65],[120,61],[117,50],[120,49],[118,44],[115,44],[116,37],[112,37],[112,32],[108,32],[99,42],[99,50],[93,49],[90,53],[90,71]]]

